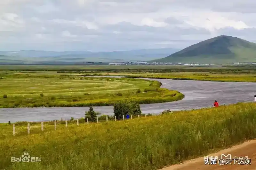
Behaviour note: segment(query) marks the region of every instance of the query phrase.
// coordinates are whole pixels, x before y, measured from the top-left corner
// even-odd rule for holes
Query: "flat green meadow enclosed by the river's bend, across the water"
[[[184,97],[158,81],[58,75],[2,74],[0,107],[107,106],[117,101],[162,103]]]

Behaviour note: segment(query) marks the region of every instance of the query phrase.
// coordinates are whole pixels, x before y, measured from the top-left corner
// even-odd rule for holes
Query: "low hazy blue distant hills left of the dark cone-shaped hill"
[[[113,52],[89,52],[89,51],[8,51],[0,52],[0,64],[4,60],[19,60],[24,62],[123,62],[123,61],[145,61],[162,58],[170,53],[175,53],[180,49],[159,48],[159,49],[141,49],[129,51]],[[2,62],[1,62],[2,61]]]

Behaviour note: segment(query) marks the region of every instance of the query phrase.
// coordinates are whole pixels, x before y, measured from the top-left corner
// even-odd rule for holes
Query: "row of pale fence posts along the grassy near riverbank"
[[[139,118],[140,115],[138,115],[137,118]],[[147,117],[147,115],[145,115]],[[108,122],[108,116],[106,116],[105,120],[100,120],[99,117],[96,117],[96,123],[100,122]],[[135,117],[136,118],[136,117]],[[123,115],[122,120],[124,121],[126,118]],[[132,115],[129,119],[132,119]],[[114,117],[114,120],[111,121],[117,121],[116,116]],[[75,120],[65,120],[65,121],[49,121],[49,122],[16,122],[15,124],[4,124],[4,126],[0,126],[0,138],[6,138],[8,136],[20,136],[20,135],[26,135],[26,134],[38,134],[45,131],[54,131],[57,129],[65,129],[68,128],[68,125],[71,124],[72,126],[79,126],[79,124],[89,124],[94,122],[89,122],[89,119],[87,118],[86,121],[83,119],[76,119]]]

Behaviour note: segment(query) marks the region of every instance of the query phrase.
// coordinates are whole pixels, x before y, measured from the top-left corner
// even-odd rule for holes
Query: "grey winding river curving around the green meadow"
[[[180,101],[155,104],[141,104],[142,113],[159,114],[163,110],[189,110],[211,107],[217,100],[220,105],[237,102],[254,101],[256,83],[249,82],[216,82],[148,79],[163,83],[163,88],[180,91],[185,98]],[[105,115],[113,115],[113,106],[93,107],[95,111]],[[59,107],[59,108],[0,108],[0,123],[17,121],[49,121],[69,120],[71,117],[84,116],[89,107]]]

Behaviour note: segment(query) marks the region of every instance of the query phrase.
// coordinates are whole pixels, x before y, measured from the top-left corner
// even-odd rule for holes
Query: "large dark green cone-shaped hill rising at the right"
[[[256,44],[226,35],[207,39],[153,61],[231,63],[256,61]]]

